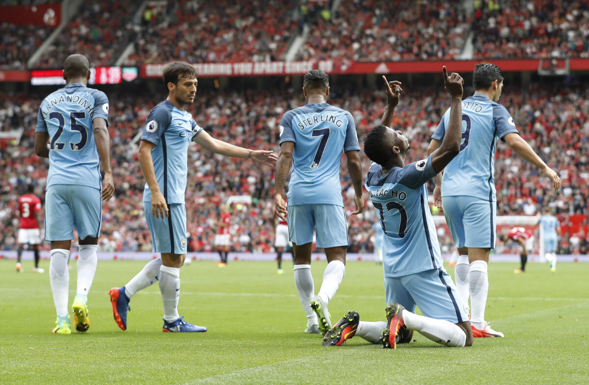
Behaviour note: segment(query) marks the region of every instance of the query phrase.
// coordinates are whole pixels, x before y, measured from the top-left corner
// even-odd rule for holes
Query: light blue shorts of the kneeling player
[[[409,276],[385,277],[386,304],[399,303],[412,313],[415,306],[423,316],[453,324],[468,321],[452,277],[443,267]]]

